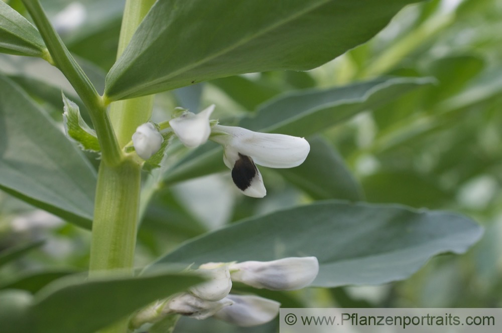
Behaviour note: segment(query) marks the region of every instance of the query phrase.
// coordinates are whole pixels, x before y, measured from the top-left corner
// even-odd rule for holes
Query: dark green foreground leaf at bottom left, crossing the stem
[[[14,327],[5,333],[92,333],[156,299],[201,281],[197,276],[172,272],[91,280],[69,276],[40,290],[31,303],[24,302],[24,307],[17,310],[24,313],[23,317],[5,317],[2,323]]]

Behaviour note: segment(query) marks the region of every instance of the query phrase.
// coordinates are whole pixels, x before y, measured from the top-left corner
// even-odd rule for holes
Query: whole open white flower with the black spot
[[[232,179],[247,196],[263,198],[267,191],[256,164],[269,168],[297,167],[310,151],[304,138],[254,132],[242,127],[214,125],[211,139],[223,145],[223,161]]]

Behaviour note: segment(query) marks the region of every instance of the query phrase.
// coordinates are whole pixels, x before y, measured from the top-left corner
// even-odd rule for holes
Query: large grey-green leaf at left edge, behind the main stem
[[[51,119],[0,76],[0,189],[89,228],[96,172]]]

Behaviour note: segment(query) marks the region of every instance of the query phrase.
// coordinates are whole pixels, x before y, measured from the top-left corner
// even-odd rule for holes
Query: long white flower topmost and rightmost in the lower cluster
[[[316,257],[243,261],[230,265],[233,281],[271,290],[301,289],[312,283],[318,272],[319,262]]]

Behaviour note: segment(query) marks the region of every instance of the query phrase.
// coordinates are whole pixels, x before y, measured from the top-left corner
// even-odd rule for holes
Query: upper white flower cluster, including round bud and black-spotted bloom
[[[243,194],[255,198],[263,198],[267,194],[256,164],[269,168],[293,168],[307,158],[310,145],[304,138],[222,126],[210,120],[213,110],[214,105],[197,114],[184,111],[171,119],[169,126],[189,148],[204,144],[208,139],[221,144],[224,148],[223,161],[231,170],[234,184]],[[145,125],[151,126],[147,128]],[[137,140],[137,143],[134,137],[138,134],[142,140]],[[138,155],[148,159],[159,150],[162,143],[159,136],[158,130],[150,123],[138,127],[133,135]]]

